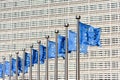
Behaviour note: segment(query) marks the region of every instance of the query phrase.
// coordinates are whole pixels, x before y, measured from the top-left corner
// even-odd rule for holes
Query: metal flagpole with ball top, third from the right
[[[58,80],[58,33],[59,30],[55,30],[56,55],[55,55],[54,80]]]

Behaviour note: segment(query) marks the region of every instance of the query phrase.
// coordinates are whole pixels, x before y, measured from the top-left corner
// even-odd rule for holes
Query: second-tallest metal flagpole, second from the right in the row
[[[68,26],[69,24],[65,24],[64,27],[65,27],[65,34],[66,34],[66,37],[65,37],[65,80],[68,80]]]

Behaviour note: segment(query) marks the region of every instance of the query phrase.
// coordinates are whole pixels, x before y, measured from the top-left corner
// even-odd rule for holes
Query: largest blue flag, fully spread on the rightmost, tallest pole
[[[80,43],[90,46],[101,46],[101,29],[80,22]]]

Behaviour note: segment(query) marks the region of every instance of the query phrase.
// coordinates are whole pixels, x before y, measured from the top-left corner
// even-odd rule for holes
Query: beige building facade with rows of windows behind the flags
[[[100,27],[102,47],[89,47],[80,55],[81,80],[120,80],[120,0],[0,0],[0,60],[15,56],[30,45],[38,48],[37,40],[46,45],[45,35],[55,40],[54,30],[65,35],[64,23],[76,31],[75,16],[80,21]],[[69,54],[69,80],[76,78],[76,53]],[[58,77],[64,80],[65,60],[59,58]],[[41,65],[41,80],[45,80],[45,64]],[[28,79],[29,74],[25,74]],[[19,76],[21,78],[21,75]],[[14,77],[13,77],[14,79]],[[33,67],[33,80],[37,66]],[[6,76],[7,80],[7,76]],[[54,80],[54,59],[49,60],[49,80]]]

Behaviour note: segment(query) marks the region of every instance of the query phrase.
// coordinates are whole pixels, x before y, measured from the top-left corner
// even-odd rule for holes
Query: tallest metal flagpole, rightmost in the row
[[[79,20],[81,16],[76,16],[77,19],[77,51],[76,51],[76,80],[80,80],[80,27]]]

